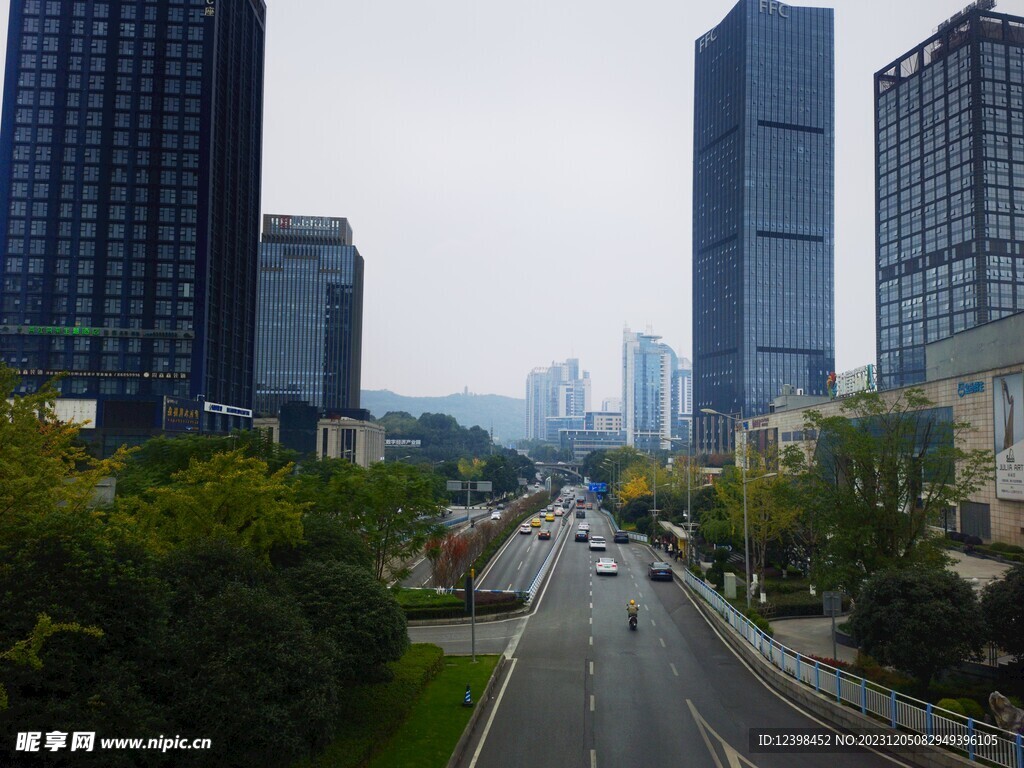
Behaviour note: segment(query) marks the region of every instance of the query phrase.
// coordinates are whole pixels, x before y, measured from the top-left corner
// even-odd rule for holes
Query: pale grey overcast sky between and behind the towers
[[[349,219],[364,389],[523,397],[575,356],[600,407],[624,326],[692,356],[693,41],[733,4],[267,0],[263,212]],[[836,8],[839,371],[874,361],[872,75],[967,4],[814,3]]]

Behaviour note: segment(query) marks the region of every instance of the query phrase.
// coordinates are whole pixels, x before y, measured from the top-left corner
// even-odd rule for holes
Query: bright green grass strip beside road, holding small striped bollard
[[[498,656],[445,656],[444,667],[423,690],[409,718],[370,761],[371,768],[443,768],[469,722],[472,709],[463,707],[466,684],[474,707]]]

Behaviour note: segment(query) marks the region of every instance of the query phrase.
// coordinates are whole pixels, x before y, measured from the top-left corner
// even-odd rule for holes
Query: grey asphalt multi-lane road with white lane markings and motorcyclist
[[[607,553],[566,535],[548,542],[514,537],[493,570],[507,586],[543,552],[560,548],[535,611],[477,625],[477,652],[506,643],[510,671],[481,719],[464,767],[507,766],[892,766],[873,753],[752,754],[751,728],[822,724],[770,691],[745,668],[675,583],[646,578],[650,550],[611,543],[607,519],[588,513]],[[617,577],[596,577],[598,555],[618,561]],[[521,563],[521,564],[520,564]],[[626,603],[641,604],[631,632]],[[468,651],[468,628],[413,628],[417,642]],[[482,637],[481,637],[482,635]]]

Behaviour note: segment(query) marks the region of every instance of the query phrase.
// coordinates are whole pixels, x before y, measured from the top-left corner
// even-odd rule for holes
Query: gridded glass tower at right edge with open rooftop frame
[[[981,5],[874,75],[883,389],[925,380],[925,344],[1024,309],[1024,17]]]

